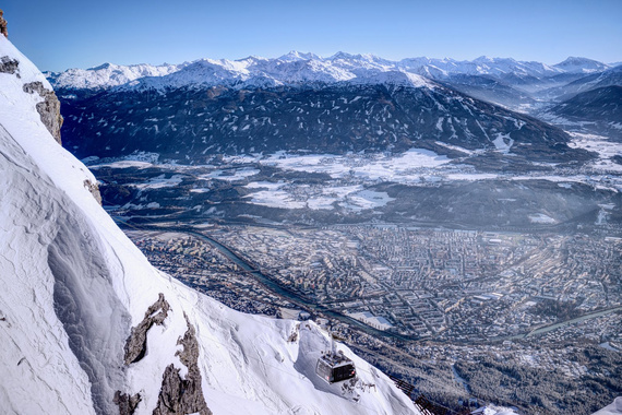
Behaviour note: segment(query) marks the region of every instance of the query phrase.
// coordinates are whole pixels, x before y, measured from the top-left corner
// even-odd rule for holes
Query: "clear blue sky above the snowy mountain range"
[[[339,50],[622,61],[622,0],[9,0],[10,39],[41,70]]]

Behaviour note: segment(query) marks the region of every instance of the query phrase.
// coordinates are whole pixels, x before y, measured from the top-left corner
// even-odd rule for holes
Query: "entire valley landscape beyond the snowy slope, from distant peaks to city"
[[[48,79],[162,270],[326,319],[436,411],[555,414],[621,391],[618,70],[290,52]]]

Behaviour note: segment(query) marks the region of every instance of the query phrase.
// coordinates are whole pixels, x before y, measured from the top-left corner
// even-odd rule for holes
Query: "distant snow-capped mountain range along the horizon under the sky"
[[[569,58],[548,66],[512,58],[480,57],[473,61],[407,58],[392,61],[373,55],[337,52],[328,58],[291,51],[279,58],[248,57],[239,60],[200,59],[181,64],[117,66],[105,63],[92,69],[70,69],[47,73],[57,88],[127,87],[170,88],[187,85],[278,86],[299,84],[398,83],[429,85],[432,80],[447,80],[456,74],[486,75],[511,83],[528,83],[557,75],[582,75],[609,69],[606,63],[586,58]]]

